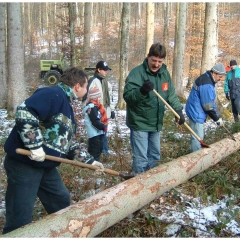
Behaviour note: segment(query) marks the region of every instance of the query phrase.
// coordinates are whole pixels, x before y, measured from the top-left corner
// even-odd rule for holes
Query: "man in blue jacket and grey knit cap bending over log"
[[[212,118],[217,125],[222,126],[223,120],[217,112],[215,98],[215,84],[226,74],[222,63],[217,63],[211,70],[199,76],[193,83],[186,103],[186,114],[192,130],[201,138],[204,138],[203,124],[207,117]],[[191,136],[191,152],[201,148],[200,142]]]

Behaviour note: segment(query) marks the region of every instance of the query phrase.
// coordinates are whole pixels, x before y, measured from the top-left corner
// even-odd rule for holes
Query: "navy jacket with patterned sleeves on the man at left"
[[[73,159],[73,143],[76,122],[71,106],[72,89],[59,83],[58,86],[40,88],[17,107],[16,124],[5,145],[6,153],[16,161],[34,167],[53,168],[58,162],[37,162],[27,156],[16,154],[16,148],[37,149],[43,147],[47,155]]]

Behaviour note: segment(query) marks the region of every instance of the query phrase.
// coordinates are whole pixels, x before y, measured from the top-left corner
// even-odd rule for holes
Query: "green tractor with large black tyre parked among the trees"
[[[56,85],[67,67],[68,65],[62,57],[60,60],[40,60],[40,79],[44,79],[47,85]],[[84,70],[88,75],[93,75],[95,68],[86,67]]]

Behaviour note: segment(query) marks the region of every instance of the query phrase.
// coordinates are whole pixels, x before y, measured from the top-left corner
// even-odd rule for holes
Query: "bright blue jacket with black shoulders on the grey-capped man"
[[[215,84],[209,71],[199,76],[193,83],[186,103],[186,114],[193,122],[204,123],[207,116],[214,121],[219,119],[214,102],[216,98]]]

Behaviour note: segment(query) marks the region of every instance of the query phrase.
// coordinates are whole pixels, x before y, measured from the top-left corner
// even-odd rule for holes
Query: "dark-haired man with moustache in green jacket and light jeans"
[[[160,161],[160,130],[164,103],[152,92],[155,89],[178,113],[179,124],[185,122],[182,105],[175,93],[170,74],[163,63],[166,48],[153,44],[143,63],[129,73],[123,98],[127,103],[126,124],[130,128],[133,174],[154,168]]]

